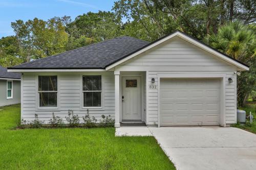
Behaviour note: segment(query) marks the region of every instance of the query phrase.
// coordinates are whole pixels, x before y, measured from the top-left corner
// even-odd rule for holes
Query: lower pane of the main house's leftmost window
[[[40,107],[57,107],[57,92],[39,92]]]

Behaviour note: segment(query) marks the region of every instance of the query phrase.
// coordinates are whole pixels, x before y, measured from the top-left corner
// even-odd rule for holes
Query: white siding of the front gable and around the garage
[[[233,124],[236,116],[236,67],[213,56],[181,38],[168,40],[115,68],[118,71],[146,71],[147,125],[158,123],[158,90],[148,89],[158,74],[224,74],[225,75],[225,122]],[[228,78],[233,78],[229,83]],[[159,87],[158,87],[159,88]]]

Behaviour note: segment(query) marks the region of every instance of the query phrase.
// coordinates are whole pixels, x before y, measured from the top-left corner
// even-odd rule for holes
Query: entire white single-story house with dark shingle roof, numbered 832
[[[180,32],[152,43],[118,37],[9,68],[22,72],[22,118],[71,109],[120,123],[237,123],[237,71],[249,67]]]

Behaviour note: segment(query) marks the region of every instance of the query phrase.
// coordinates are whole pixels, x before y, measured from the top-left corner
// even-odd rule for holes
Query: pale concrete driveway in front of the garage
[[[256,135],[237,128],[148,128],[179,170],[256,169]]]

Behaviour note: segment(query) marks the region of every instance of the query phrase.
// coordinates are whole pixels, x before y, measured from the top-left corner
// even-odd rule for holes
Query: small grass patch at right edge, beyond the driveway
[[[240,129],[243,129],[243,130],[246,130],[246,131],[256,134],[256,113],[255,113],[256,110],[255,110],[255,108],[256,108],[256,103],[248,103],[245,107],[238,108],[238,109],[246,111],[246,115],[249,115],[251,112],[253,115],[253,122],[252,122],[252,124],[250,124],[249,119],[247,119],[247,122],[245,125],[236,124],[236,125],[232,125],[232,127],[240,128]]]

